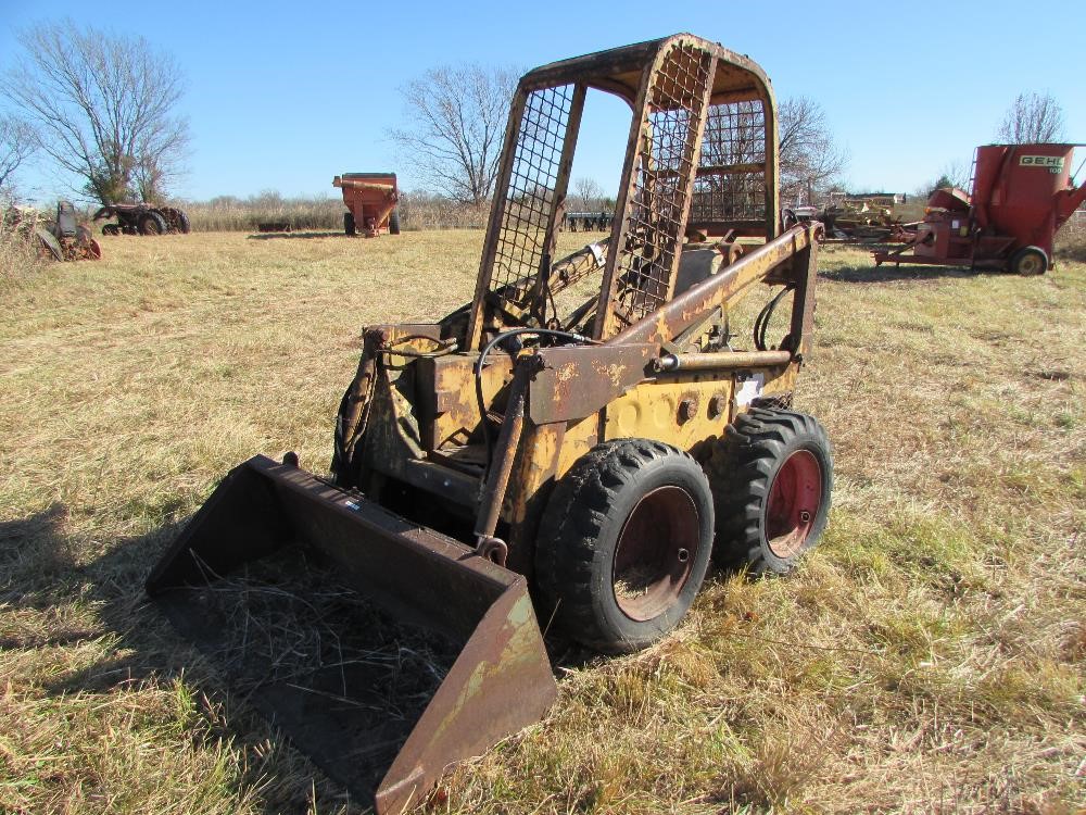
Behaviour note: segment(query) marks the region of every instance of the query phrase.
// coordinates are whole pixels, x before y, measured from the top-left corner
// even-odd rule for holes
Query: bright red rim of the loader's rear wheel
[[[766,540],[778,557],[804,548],[822,504],[822,468],[807,450],[792,453],[773,478],[766,504]]]

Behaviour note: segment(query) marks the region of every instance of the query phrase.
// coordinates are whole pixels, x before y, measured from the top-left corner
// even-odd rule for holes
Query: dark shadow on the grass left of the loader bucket
[[[260,679],[239,688],[233,665],[202,651],[199,643],[193,648],[171,625],[161,604],[147,598],[143,582],[150,566],[185,522],[121,539],[98,559],[80,564],[77,542],[64,534],[66,517],[67,509],[58,503],[26,518],[0,523],[0,609],[8,616],[0,651],[99,643],[98,659],[91,664],[60,673],[39,686],[63,700],[68,710],[63,715],[79,716],[81,705],[98,704],[94,697],[138,695],[143,687],[168,690],[184,684],[193,689],[192,699],[207,700],[198,705],[202,720],[191,729],[193,742],[211,753],[229,742],[240,753],[232,787],[238,801],[255,801],[266,815],[306,813],[313,806],[319,812],[367,811],[357,798],[345,795],[342,787],[316,770],[305,753],[269,750],[269,744],[281,743],[291,734],[254,704]],[[272,590],[279,592],[274,601],[283,604],[287,590]],[[306,598],[301,602],[311,604]],[[301,636],[313,638],[305,631]],[[91,699],[86,700],[87,695]],[[351,754],[352,744],[342,748]]]

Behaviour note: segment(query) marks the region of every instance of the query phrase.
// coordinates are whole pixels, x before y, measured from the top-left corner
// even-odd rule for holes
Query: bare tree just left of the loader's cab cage
[[[403,160],[435,190],[463,203],[490,198],[518,72],[440,66],[401,88],[409,125],[393,129]]]

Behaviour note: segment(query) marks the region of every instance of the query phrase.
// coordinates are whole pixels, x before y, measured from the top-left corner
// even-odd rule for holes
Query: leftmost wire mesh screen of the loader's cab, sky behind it
[[[547,223],[572,99],[573,85],[533,90],[520,120],[490,283],[491,291],[520,308],[528,303],[547,252]]]

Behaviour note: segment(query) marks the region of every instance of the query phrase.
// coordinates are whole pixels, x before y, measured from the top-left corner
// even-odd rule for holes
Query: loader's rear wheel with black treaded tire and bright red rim
[[[803,455],[793,459],[796,453]],[[793,540],[791,547],[776,535],[771,540],[770,535],[780,531],[782,522],[770,519],[768,512],[778,476],[786,462],[792,462],[790,468],[817,464],[818,472],[816,475],[811,471],[811,480],[819,485],[817,498],[809,493],[806,497],[817,509],[807,511],[807,522],[790,527],[791,534],[801,540]],[[818,543],[830,514],[833,449],[813,416],[765,408],[741,413],[728,426],[708,467],[716,498],[714,560],[718,565],[734,567],[746,563],[752,574],[783,575],[795,568],[804,552]]]

